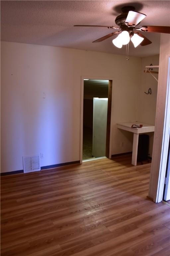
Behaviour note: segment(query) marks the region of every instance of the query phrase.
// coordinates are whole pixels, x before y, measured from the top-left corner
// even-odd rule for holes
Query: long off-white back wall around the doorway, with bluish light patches
[[[80,159],[81,76],[114,77],[112,154],[132,150],[117,122],[136,119],[140,58],[67,48],[1,43],[1,172]],[[45,93],[45,99],[43,98]]]

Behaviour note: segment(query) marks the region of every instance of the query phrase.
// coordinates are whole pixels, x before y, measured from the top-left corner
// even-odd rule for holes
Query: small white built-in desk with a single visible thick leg
[[[131,128],[132,124],[142,124],[143,126],[141,128]],[[140,123],[140,122],[126,122],[126,123],[118,123],[117,128],[129,131],[129,132],[133,132],[133,149],[132,149],[131,164],[136,165],[139,133],[154,132],[155,126],[151,124]]]

